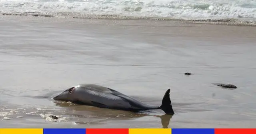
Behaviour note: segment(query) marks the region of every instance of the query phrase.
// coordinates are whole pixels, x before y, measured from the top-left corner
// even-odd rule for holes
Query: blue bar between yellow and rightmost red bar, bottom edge
[[[172,134],[214,134],[214,128],[172,128]]]

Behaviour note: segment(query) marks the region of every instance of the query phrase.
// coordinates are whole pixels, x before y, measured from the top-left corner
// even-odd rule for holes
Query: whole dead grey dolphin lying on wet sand
[[[53,99],[72,102],[79,105],[96,106],[99,108],[126,110],[132,112],[161,109],[166,114],[174,114],[170,100],[170,89],[168,89],[164,94],[161,106],[144,104],[143,102],[126,96],[116,90],[95,84],[80,84],[63,91]]]

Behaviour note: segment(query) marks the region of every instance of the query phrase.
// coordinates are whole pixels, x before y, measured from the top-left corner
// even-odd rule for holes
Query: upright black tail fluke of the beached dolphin
[[[171,104],[171,99],[170,99],[170,89],[166,91],[164,94],[164,98],[162,100],[162,105],[160,106],[160,109],[162,109],[166,114],[174,114],[174,111],[172,109],[172,104]]]

